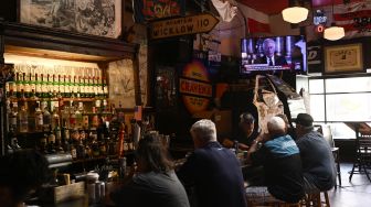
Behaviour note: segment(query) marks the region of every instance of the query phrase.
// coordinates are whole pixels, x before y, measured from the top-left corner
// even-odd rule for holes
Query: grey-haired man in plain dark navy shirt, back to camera
[[[215,124],[208,119],[191,130],[194,152],[178,172],[186,188],[194,187],[197,206],[246,207],[241,165],[234,153],[216,141]],[[190,197],[192,204],[192,197]]]

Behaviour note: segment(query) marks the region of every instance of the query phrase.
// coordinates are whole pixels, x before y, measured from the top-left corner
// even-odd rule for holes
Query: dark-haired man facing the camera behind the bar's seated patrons
[[[252,142],[256,139],[257,133],[254,132],[255,119],[248,113],[244,112],[240,116],[240,133],[233,140],[225,139],[223,145],[225,148],[233,148],[234,141],[239,141],[240,150],[248,150]]]

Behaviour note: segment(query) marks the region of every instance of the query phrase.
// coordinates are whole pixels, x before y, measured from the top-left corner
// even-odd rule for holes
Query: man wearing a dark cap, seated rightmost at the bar
[[[299,148],[304,188],[306,193],[329,190],[336,185],[336,167],[329,143],[314,130],[310,115],[299,113],[296,118],[296,133]]]

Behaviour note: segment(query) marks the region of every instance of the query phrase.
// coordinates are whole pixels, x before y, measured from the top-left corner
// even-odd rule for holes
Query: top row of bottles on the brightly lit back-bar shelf
[[[14,81],[8,81],[6,85],[8,97],[92,98],[108,96],[107,79],[102,76],[102,73],[24,72],[24,69],[19,69],[20,67],[15,65]],[[97,70],[96,68],[75,68],[76,72],[78,69]]]

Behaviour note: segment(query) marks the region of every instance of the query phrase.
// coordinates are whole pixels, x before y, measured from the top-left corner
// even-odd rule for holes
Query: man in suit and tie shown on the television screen
[[[261,64],[268,66],[287,65],[285,57],[275,54],[276,43],[272,39],[265,39],[263,42],[264,56],[261,58]]]

